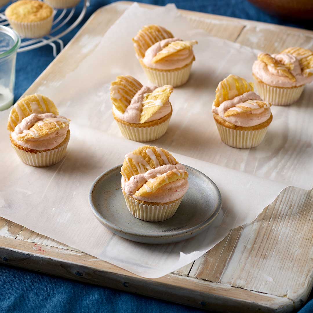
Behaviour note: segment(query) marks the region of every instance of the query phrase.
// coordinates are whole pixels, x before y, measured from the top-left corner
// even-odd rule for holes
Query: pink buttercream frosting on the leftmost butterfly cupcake
[[[65,126],[62,128],[58,127],[56,131],[44,136],[37,136],[35,131],[30,130],[36,123],[43,124],[44,121],[48,121],[50,123],[60,121],[64,123]],[[58,146],[65,139],[68,129],[69,120],[67,120],[64,116],[54,115],[52,113],[33,113],[25,117],[21,123],[15,126],[14,131],[11,132],[11,137],[16,143],[18,143],[18,145],[25,148],[33,150],[48,150]],[[26,135],[28,132],[31,132],[34,138],[23,141],[20,140],[21,137]]]

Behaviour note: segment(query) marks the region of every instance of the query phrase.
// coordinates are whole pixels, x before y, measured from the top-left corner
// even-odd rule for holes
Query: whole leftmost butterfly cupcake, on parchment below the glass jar
[[[69,120],[43,95],[28,95],[13,106],[8,120],[12,147],[26,164],[44,167],[65,156]]]

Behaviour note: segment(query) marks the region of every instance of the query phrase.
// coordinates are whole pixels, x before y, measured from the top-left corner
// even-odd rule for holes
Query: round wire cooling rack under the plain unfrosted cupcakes
[[[62,51],[64,48],[64,43],[60,39],[67,33],[69,33],[72,29],[74,29],[80,21],[84,18],[87,7],[90,5],[90,0],[83,0],[84,5],[81,9],[78,7],[70,8],[70,9],[54,9],[54,20],[52,24],[52,29],[49,35],[44,36],[42,38],[35,38],[35,39],[30,39],[30,38],[22,38],[21,46],[18,49],[18,52],[24,52],[32,49],[36,49],[39,47],[42,47],[46,44],[49,44],[52,46],[52,51],[54,57],[57,56],[58,54],[58,49],[57,46],[59,46],[59,52]],[[77,10],[80,10],[79,16],[73,20],[73,15],[77,13]],[[72,21],[73,20],[73,21]],[[10,27],[9,22],[4,15],[4,11],[0,13],[0,25],[4,25],[7,27]]]

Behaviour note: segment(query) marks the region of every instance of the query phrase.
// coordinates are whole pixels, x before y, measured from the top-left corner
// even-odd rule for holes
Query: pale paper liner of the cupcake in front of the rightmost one
[[[222,141],[228,146],[240,149],[248,149],[259,146],[259,144],[263,141],[268,128],[267,126],[255,131],[238,131],[220,125],[216,121],[215,123]]]

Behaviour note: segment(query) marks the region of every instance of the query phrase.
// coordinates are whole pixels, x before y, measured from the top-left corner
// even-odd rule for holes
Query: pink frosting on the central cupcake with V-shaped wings
[[[112,110],[114,114],[122,121],[126,121],[128,123],[139,124],[141,112],[142,112],[142,106],[143,106],[143,97],[146,93],[151,93],[156,88],[157,87],[155,86],[154,87],[143,86],[136,93],[136,95],[132,98],[130,105],[128,105],[124,113],[117,110],[115,106],[113,105]],[[159,120],[160,118],[162,118],[163,116],[167,115],[170,112],[171,112],[171,105],[170,105],[170,102],[167,101],[146,122]]]

